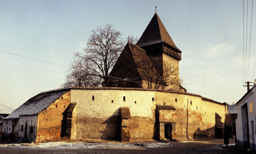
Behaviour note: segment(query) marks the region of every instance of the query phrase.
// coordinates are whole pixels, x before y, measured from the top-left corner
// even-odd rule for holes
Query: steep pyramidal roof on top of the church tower
[[[150,23],[148,24],[147,28],[145,29],[144,33],[142,34],[136,45],[138,45],[139,47],[143,47],[146,45],[152,45],[161,42],[164,42],[180,51],[180,49],[178,49],[178,47],[176,47],[176,45],[172,41],[159,16],[157,14],[154,14],[153,18],[151,19]]]

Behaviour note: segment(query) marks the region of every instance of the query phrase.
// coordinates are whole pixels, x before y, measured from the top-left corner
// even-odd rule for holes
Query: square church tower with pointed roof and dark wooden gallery
[[[146,51],[159,73],[163,74],[165,66],[171,66],[175,78],[180,78],[181,51],[172,41],[157,13],[154,14],[136,45]]]

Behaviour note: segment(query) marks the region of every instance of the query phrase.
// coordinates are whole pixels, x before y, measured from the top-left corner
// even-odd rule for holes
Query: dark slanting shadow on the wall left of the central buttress
[[[106,128],[99,133],[102,133],[102,140],[120,140],[120,108],[118,108],[102,125]]]

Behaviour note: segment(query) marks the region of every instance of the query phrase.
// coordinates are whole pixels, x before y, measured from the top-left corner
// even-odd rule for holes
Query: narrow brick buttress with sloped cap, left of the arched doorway
[[[121,114],[121,142],[130,142],[131,115],[130,115],[129,107],[120,107],[120,114]]]

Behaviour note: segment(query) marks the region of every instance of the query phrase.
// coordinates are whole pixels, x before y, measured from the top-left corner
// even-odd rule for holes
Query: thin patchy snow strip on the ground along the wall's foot
[[[127,149],[127,148],[165,148],[173,144],[163,142],[138,142],[138,143],[89,143],[89,142],[48,142],[39,144],[10,144],[0,145],[2,148],[92,148],[92,149]]]

